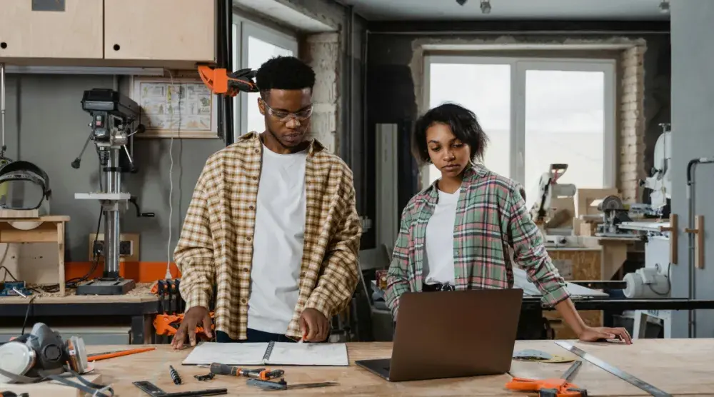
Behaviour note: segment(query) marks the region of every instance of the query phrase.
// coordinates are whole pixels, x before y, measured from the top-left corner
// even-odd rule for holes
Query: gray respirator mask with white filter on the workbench
[[[62,341],[59,333],[44,323],[35,323],[30,333],[0,345],[0,383],[37,383],[51,379],[92,396],[114,396],[109,386],[80,376],[87,372],[89,363],[82,338],[72,336]],[[69,381],[68,377],[76,377],[81,383]]]

